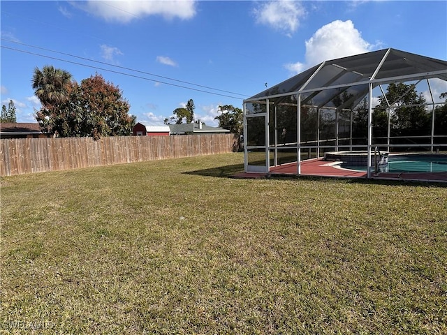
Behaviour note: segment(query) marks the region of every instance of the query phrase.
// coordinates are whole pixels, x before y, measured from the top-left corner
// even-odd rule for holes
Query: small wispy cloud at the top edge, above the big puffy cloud
[[[299,1],[268,1],[254,9],[256,22],[266,24],[286,34],[292,34],[298,29],[300,19],[306,15]]]

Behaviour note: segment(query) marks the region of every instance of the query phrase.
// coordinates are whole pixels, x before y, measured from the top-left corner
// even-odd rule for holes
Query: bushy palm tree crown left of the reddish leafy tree
[[[68,96],[68,85],[71,84],[71,74],[66,70],[43,66],[42,70],[34,69],[32,87],[34,94],[43,106],[58,105]]]

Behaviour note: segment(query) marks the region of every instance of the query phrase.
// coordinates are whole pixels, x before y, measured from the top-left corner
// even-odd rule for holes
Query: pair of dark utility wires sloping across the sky
[[[239,93],[236,93],[236,92],[224,91],[223,89],[214,89],[214,87],[208,87],[208,86],[203,86],[203,85],[200,85],[200,84],[194,84],[192,82],[185,82],[183,80],[177,80],[177,79],[170,78],[170,77],[164,77],[163,75],[155,75],[154,73],[148,73],[148,72],[141,71],[141,70],[135,70],[133,68],[126,68],[124,66],[119,66],[119,65],[115,65],[115,64],[109,64],[109,63],[105,63],[104,61],[96,61],[94,59],[88,59],[88,58],[85,58],[85,57],[76,56],[74,54],[68,54],[66,52],[60,52],[60,51],[45,49],[44,47],[38,47],[36,45],[29,45],[29,44],[26,44],[26,43],[20,43],[20,42],[17,42],[15,40],[8,40],[6,38],[0,38],[0,39],[1,40],[5,40],[5,41],[10,42],[10,43],[24,45],[26,47],[34,47],[34,48],[39,49],[39,50],[44,50],[44,51],[48,51],[48,52],[54,52],[56,54],[64,54],[65,56],[74,57],[74,58],[77,58],[77,59],[82,59],[84,61],[91,61],[91,62],[94,62],[94,63],[97,63],[97,64],[103,64],[103,65],[112,66],[112,67],[115,67],[115,68],[121,68],[123,70],[130,70],[130,71],[133,71],[133,72],[136,72],[136,73],[142,73],[142,74],[145,74],[145,75],[152,75],[153,77],[159,77],[159,78],[163,78],[163,79],[166,79],[166,80],[171,80],[173,82],[181,82],[182,84],[189,84],[189,85],[193,85],[193,86],[196,86],[196,87],[202,87],[204,89],[212,89],[213,91],[220,91],[220,92],[223,92],[223,93],[236,94],[237,96],[248,97],[247,94],[239,94]],[[3,45],[2,45],[2,47],[3,47]],[[14,49],[12,47],[6,47],[6,48],[8,48],[10,50],[16,50],[16,49]],[[26,52],[24,50],[18,50],[18,49],[16,51]],[[27,53],[34,54],[33,52],[27,52]],[[36,55],[41,56],[41,57],[47,57],[47,56],[42,55],[42,54],[36,54]],[[48,57],[48,58],[57,59],[57,58],[53,58],[53,57]],[[65,61],[64,59],[58,59],[58,60]],[[75,62],[72,62],[72,61],[67,61],[67,62],[68,63],[73,63],[73,64],[78,64],[78,63],[75,63]],[[78,65],[83,65],[83,64],[78,64]],[[93,66],[89,66],[89,67],[93,67]],[[95,67],[93,67],[93,68],[95,68]],[[110,70],[110,72],[115,72],[115,71]],[[122,73],[122,74],[124,74],[124,73]],[[149,80],[149,78],[146,78],[146,79]],[[152,81],[160,82],[159,80],[152,80]],[[163,84],[169,84],[169,83],[163,82]],[[182,87],[182,86],[175,85],[175,84],[173,84],[173,86]],[[188,88],[188,87],[183,87],[183,88]],[[196,91],[200,91],[200,90],[196,90]],[[212,92],[206,92],[206,93],[213,94]],[[217,94],[217,95],[221,95],[221,94]],[[222,95],[222,96],[226,96],[226,95]],[[235,97],[233,97],[233,98],[235,98]]]

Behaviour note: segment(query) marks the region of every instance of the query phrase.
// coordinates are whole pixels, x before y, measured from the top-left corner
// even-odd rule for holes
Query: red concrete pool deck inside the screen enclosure
[[[338,162],[339,163],[339,162]],[[316,177],[347,177],[347,178],[366,178],[365,171],[347,170],[339,168],[337,162],[323,161],[323,158],[314,158],[301,162],[301,174],[305,176]],[[296,175],[297,163],[288,163],[270,168],[270,175]],[[265,178],[268,177],[265,172],[242,172],[233,175],[235,178]],[[402,172],[402,173],[379,173],[371,176],[375,179],[388,180],[413,180],[413,181],[444,181],[447,182],[447,172]]]

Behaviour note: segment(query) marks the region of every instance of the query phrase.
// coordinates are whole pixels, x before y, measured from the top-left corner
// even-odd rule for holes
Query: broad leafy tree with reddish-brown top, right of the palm
[[[135,117],[122,91],[101,75],[94,75],[81,84],[66,86],[67,96],[57,105],[44,105],[36,119],[44,133],[60,137],[130,135]]]

